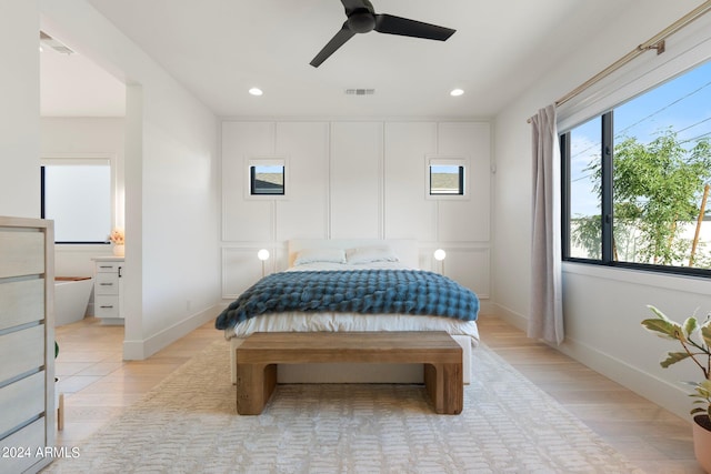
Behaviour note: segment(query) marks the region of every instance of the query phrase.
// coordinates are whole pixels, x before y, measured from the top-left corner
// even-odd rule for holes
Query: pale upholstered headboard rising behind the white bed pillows
[[[289,266],[293,265],[297,253],[306,249],[354,249],[359,246],[389,246],[400,263],[411,269],[420,266],[418,241],[410,239],[294,239],[289,241]]]

